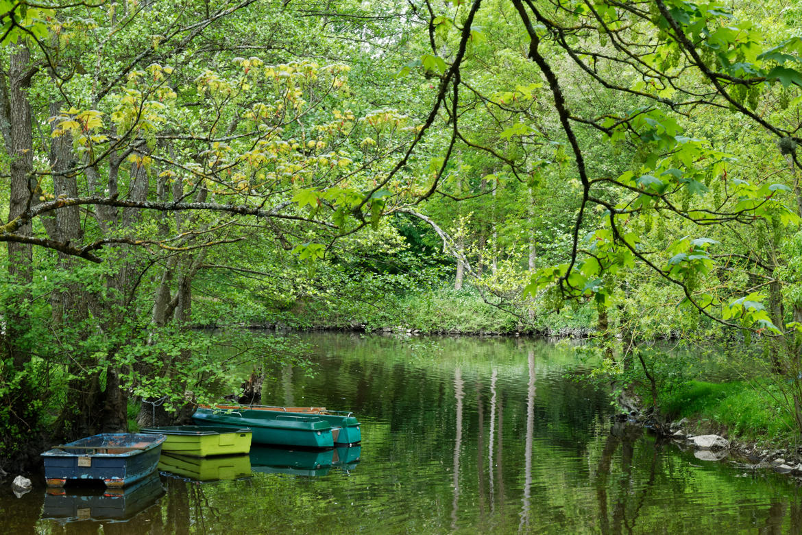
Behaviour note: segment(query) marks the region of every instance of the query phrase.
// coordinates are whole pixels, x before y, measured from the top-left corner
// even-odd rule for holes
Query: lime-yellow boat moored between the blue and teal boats
[[[243,455],[250,451],[253,432],[249,428],[232,429],[211,425],[174,425],[164,428],[144,428],[142,432],[167,437],[162,452],[207,457]]]

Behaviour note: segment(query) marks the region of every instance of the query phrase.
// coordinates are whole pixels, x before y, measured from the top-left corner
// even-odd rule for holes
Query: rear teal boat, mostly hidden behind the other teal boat
[[[275,418],[278,415],[314,416],[331,424],[332,440],[335,446],[350,446],[359,444],[362,441],[361,424],[359,424],[354,413],[348,411],[329,411],[326,410],[326,407],[278,407],[273,405],[215,405],[214,407],[201,406],[198,408],[209,409],[213,412],[209,421],[214,421],[215,415],[219,414],[217,411],[238,412],[241,414],[243,411],[247,411],[249,418],[257,420]]]

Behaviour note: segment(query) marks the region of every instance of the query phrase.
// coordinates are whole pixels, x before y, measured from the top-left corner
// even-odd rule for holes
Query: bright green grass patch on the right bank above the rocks
[[[769,384],[690,381],[663,393],[661,407],[672,419],[687,417],[701,427],[724,426],[731,438],[787,441],[795,426],[778,399],[782,399],[780,392]]]

